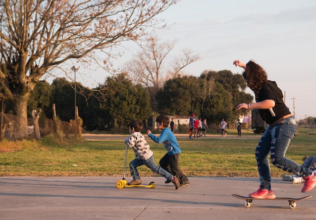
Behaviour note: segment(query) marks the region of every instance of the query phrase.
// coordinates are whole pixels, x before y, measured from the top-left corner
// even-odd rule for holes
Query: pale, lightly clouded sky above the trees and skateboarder
[[[175,54],[187,48],[200,57],[184,68],[186,75],[198,77],[204,70],[241,74],[233,61],[253,60],[277,82],[296,120],[316,117],[316,1],[181,0],[160,17],[170,27],[156,30],[156,36],[176,40]],[[131,49],[117,63],[137,51]],[[106,78],[90,74],[93,82]]]

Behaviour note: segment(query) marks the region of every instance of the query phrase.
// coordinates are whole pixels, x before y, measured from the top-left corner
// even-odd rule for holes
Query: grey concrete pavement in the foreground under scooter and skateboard
[[[313,197],[298,201],[253,200],[251,207],[231,194],[247,195],[257,178],[189,177],[175,190],[163,177],[144,177],[155,188],[118,189],[122,177],[0,177],[0,219],[315,219],[316,190],[273,179],[279,197]],[[127,177],[129,180],[130,177]]]

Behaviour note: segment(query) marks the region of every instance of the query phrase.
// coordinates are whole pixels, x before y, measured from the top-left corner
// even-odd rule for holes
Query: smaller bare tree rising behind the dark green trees
[[[155,94],[166,80],[174,79],[184,67],[199,60],[193,51],[184,49],[182,54],[174,59],[172,68],[168,68],[167,57],[175,43],[176,41],[159,42],[156,37],[150,37],[141,45],[141,51],[125,65],[130,77],[147,87],[151,95]]]

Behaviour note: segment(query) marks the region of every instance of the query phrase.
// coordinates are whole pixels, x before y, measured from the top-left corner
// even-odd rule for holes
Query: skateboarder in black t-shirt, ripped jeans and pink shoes
[[[282,90],[276,82],[268,80],[266,71],[255,62],[249,61],[244,64],[235,60],[233,64],[244,69],[242,76],[248,87],[254,92],[256,101],[248,104],[240,103],[236,109],[258,109],[261,119],[269,125],[254,151],[260,186],[249,196],[267,199],[276,197],[271,189],[269,155],[275,167],[302,177],[304,186],[301,192],[309,192],[316,186],[315,172],[285,157],[289,143],[296,131],[296,121],[283,101]]]

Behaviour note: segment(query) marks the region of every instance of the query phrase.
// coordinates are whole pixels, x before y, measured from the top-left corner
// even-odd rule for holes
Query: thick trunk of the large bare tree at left
[[[13,139],[22,139],[28,137],[27,132],[27,102],[29,99],[29,94],[18,95],[12,102],[15,109],[15,114],[17,116],[17,121],[15,122],[15,134]]]

